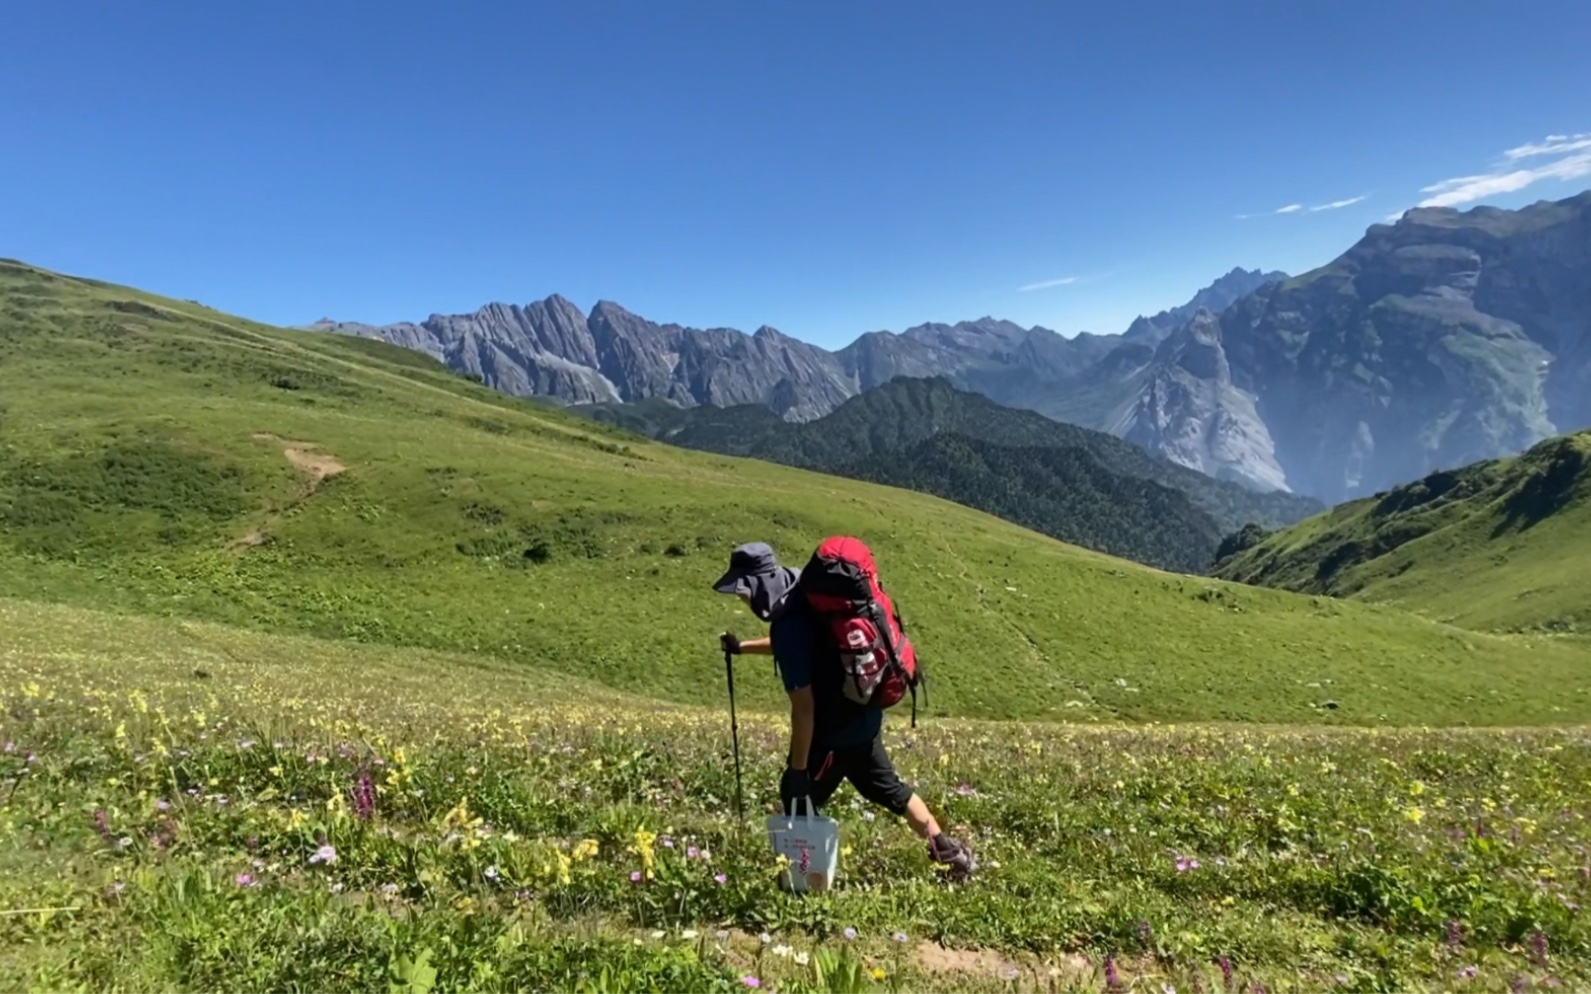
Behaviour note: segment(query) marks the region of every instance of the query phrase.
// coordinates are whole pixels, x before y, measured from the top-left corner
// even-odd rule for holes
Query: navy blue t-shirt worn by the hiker
[[[840,684],[840,654],[823,628],[823,619],[802,601],[792,601],[788,609],[768,625],[768,641],[773,662],[778,663],[784,690],[811,687],[813,695],[813,751],[845,749],[872,743],[885,724],[878,708],[858,705],[845,697]]]

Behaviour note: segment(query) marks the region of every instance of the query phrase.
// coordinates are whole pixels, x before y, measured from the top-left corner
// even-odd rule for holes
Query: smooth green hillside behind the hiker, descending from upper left
[[[415,353],[0,266],[0,595],[722,693],[735,542],[875,546],[931,705],[988,717],[1581,720],[1581,649],[1181,577],[934,498],[609,436]],[[312,488],[283,445],[347,466]],[[625,439],[620,444],[617,439]],[[256,533],[264,544],[234,549]],[[531,552],[533,558],[527,558]],[[775,681],[748,679],[756,703]],[[1333,698],[1340,709],[1317,709]]]

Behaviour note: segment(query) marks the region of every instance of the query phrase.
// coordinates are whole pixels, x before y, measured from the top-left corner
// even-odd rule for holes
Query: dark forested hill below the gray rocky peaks
[[[813,421],[767,407],[660,399],[570,410],[638,434],[931,493],[1052,538],[1181,573],[1204,573],[1222,536],[1322,511],[1152,455],[1115,436],[1001,407],[947,379],[897,377]]]

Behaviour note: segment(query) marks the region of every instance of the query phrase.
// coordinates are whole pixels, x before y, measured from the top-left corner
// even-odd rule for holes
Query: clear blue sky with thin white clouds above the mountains
[[[274,323],[562,293],[835,347],[1122,331],[1591,188],[1591,3],[1303,6],[13,5],[0,254]]]

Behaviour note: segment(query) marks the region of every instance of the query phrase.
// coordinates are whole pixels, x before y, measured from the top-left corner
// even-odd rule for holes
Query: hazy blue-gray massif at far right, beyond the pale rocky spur
[[[1341,501],[1591,423],[1591,194],[1411,210],[1220,316],[1295,490]]]

